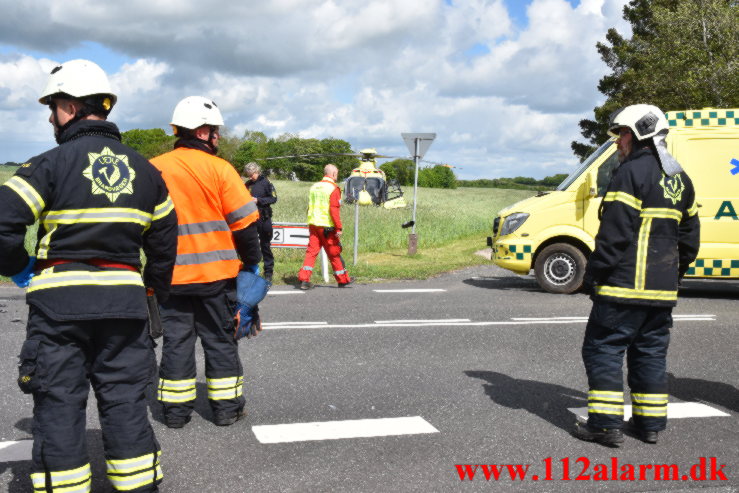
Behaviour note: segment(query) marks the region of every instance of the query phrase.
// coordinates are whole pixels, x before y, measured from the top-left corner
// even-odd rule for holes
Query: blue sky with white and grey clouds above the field
[[[87,58],[108,72],[119,96],[111,120],[124,131],[169,131],[177,101],[204,95],[237,135],[334,137],[405,155],[401,132],[435,132],[427,158],[460,178],[566,173],[578,121],[602,102],[595,44],[610,27],[628,34],[626,1],[6,5],[0,162],[54,145],[38,92],[55,64]]]

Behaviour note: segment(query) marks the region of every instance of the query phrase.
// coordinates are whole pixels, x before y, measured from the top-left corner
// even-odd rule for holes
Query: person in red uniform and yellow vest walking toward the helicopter
[[[323,179],[314,183],[308,197],[308,231],[310,238],[305,250],[303,267],[298,273],[300,289],[307,290],[313,287],[310,282],[313,266],[321,247],[326,251],[331,266],[334,269],[334,278],[343,288],[352,283],[346,270],[344,259],[341,258],[341,190],[336,185],[339,170],[333,164],[327,164],[323,169]]]

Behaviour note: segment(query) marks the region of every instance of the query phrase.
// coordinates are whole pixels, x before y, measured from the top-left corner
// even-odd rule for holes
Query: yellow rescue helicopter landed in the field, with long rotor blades
[[[385,172],[377,166],[379,158],[398,158],[377,153],[376,149],[362,149],[358,153],[334,154],[292,154],[258,158],[260,161],[289,158],[312,158],[330,156],[353,156],[359,158],[359,166],[354,168],[344,181],[344,201],[347,204],[375,205],[385,209],[397,209],[407,205],[403,190],[397,180],[387,180]]]

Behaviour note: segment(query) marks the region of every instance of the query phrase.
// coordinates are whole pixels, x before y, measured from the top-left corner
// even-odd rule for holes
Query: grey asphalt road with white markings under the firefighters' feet
[[[393,290],[429,291],[382,292]],[[584,295],[547,294],[494,266],[347,289],[279,286],[261,306],[265,330],[240,343],[244,420],[211,422],[200,350],[192,422],[166,428],[151,401],[161,491],[737,491],[737,299],[739,283],[686,282],[668,359],[670,413],[693,417],[671,418],[657,445],[627,436],[610,449],[570,436],[571,409],[587,405]],[[25,321],[22,293],[0,288],[0,488],[10,492],[30,491],[32,405],[15,384]],[[88,415],[93,491],[111,491],[92,396]],[[702,457],[707,480],[692,480]],[[485,480],[480,464],[489,474],[491,464],[521,465],[526,476],[512,480],[516,468],[503,467]],[[675,479],[655,480],[653,464],[674,464]]]

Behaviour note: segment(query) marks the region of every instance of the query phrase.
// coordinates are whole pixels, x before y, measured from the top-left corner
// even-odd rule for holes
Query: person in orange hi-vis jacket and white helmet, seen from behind
[[[223,117],[208,98],[177,104],[174,150],[155,157],[178,218],[177,261],[169,299],[160,304],[164,330],[158,399],[165,423],[182,428],[195,404],[195,341],[205,353],[213,422],[228,426],[244,415],[243,368],[233,336],[236,277],[256,273],[261,260],[257,203],[239,174],[216,157]]]

